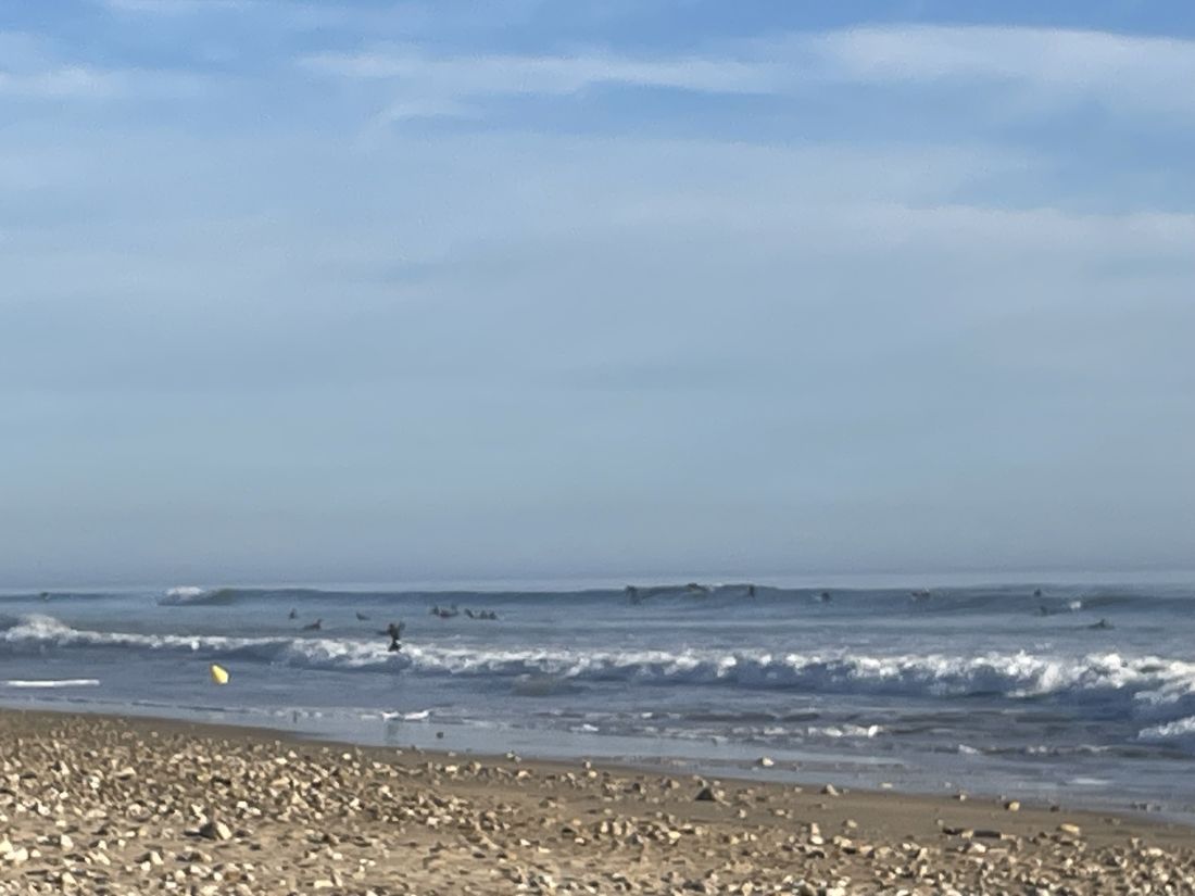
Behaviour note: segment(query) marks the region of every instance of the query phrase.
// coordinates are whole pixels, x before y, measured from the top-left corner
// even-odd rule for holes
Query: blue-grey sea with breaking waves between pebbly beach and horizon
[[[1195,587],[914,590],[7,593],[0,704],[1195,820]]]

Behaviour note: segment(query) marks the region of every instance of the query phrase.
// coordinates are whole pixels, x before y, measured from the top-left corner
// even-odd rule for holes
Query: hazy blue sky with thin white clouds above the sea
[[[1182,0],[0,0],[0,585],[1195,566]]]

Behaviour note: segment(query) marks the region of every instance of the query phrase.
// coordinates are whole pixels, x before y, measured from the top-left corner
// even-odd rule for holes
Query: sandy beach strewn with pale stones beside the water
[[[0,892],[1190,894],[1133,815],[0,712]]]

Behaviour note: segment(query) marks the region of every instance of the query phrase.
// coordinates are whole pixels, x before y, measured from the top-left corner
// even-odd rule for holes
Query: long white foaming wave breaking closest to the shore
[[[0,627],[0,656],[74,648],[184,652],[223,661],[299,668],[406,671],[516,682],[637,682],[734,686],[802,693],[914,698],[1001,696],[1098,702],[1121,714],[1164,722],[1195,713],[1195,663],[1164,657],[1029,652],[857,655],[713,650],[478,649],[406,643],[388,652],[384,638],[142,634],[72,628],[29,615]]]

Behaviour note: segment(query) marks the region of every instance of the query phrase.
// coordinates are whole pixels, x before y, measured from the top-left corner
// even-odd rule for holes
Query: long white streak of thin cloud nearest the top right
[[[797,96],[826,85],[1011,87],[1023,109],[1095,102],[1193,112],[1195,42],[1021,26],[858,27],[729,45],[721,53],[431,56],[410,45],[305,56],[307,70],[394,85],[456,115],[494,96],[568,96],[612,85],[705,94]]]

